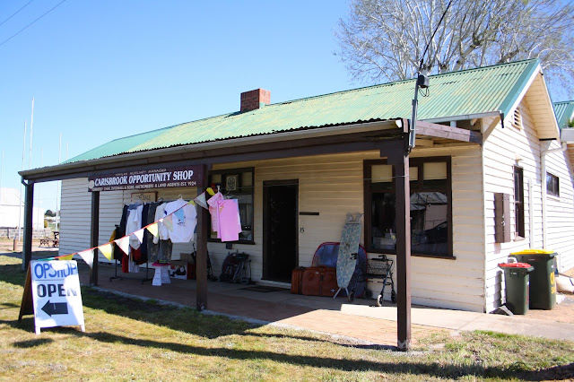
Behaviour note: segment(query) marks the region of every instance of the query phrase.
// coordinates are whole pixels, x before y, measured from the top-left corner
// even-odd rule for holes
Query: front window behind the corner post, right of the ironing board
[[[396,195],[392,165],[364,162],[367,250],[396,253]],[[411,252],[452,256],[450,158],[410,161]]]

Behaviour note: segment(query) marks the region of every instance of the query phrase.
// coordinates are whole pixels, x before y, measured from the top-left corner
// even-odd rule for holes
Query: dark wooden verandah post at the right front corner
[[[404,150],[388,156],[396,177],[396,329],[401,351],[411,347],[411,187],[407,145],[408,135],[404,135]]]

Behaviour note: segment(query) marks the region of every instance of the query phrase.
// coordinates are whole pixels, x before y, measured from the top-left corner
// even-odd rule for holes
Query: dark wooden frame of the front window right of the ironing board
[[[424,163],[432,163],[432,162],[445,162],[447,165],[447,186],[446,189],[443,188],[423,188],[422,182],[424,180],[423,176],[423,166]],[[364,213],[365,213],[365,223],[364,223],[364,246],[365,249],[370,253],[380,253],[380,254],[395,254],[396,249],[378,249],[372,247],[372,240],[371,240],[371,223],[372,223],[372,216],[371,216],[371,207],[372,207],[372,190],[371,190],[371,168],[373,165],[388,165],[388,161],[386,159],[380,160],[366,160],[363,161],[363,203],[364,203]],[[417,180],[417,187],[413,187],[413,181],[409,184],[410,194],[412,195],[413,192],[443,192],[448,197],[448,204],[447,204],[447,221],[448,221],[448,253],[446,255],[432,255],[432,254],[422,254],[416,253],[412,251],[412,256],[422,256],[422,257],[432,257],[432,258],[446,258],[446,259],[455,259],[456,257],[453,255],[453,222],[452,222],[452,158],[449,156],[441,156],[441,157],[425,157],[425,158],[411,158],[409,160],[409,168],[416,167],[418,169],[418,176]],[[388,193],[395,194],[396,193],[396,185],[395,185],[395,166],[392,167],[392,186],[388,190]],[[414,191],[413,191],[414,190]]]

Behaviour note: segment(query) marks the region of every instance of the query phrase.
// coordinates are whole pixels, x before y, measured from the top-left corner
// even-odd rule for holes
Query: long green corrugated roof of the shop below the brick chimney
[[[533,59],[433,75],[429,96],[419,97],[418,118],[438,119],[489,112],[508,114],[538,65],[538,60]],[[406,80],[276,103],[262,109],[209,117],[120,138],[67,162],[304,128],[410,118],[413,91],[414,80]]]

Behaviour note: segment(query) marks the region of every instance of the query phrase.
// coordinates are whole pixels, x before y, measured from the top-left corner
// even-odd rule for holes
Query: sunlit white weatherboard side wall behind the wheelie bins
[[[522,116],[522,128],[512,126],[507,120],[505,128],[497,126],[483,145],[484,161],[484,204],[486,224],[486,311],[500,306],[503,300],[504,283],[499,263],[508,261],[510,253],[528,248],[543,247],[543,203],[542,187],[545,177],[541,176],[541,151],[546,148],[558,148],[560,143],[547,143],[538,139],[535,121],[531,116],[526,100],[517,107]],[[490,121],[484,124],[488,126]],[[540,123],[540,122],[539,122]],[[513,166],[523,169],[525,200],[525,236],[514,235],[516,219],[514,215],[514,170]],[[560,176],[561,197],[548,196],[547,206],[547,249],[561,254],[561,269],[574,264],[574,254],[569,247],[571,227],[574,223],[572,200],[572,173],[567,153],[554,153],[547,157],[547,171]],[[529,186],[529,183],[532,187]],[[530,192],[532,189],[532,193]],[[512,239],[508,243],[496,243],[494,239],[494,194],[510,195],[510,225]],[[532,219],[532,220],[531,220]],[[534,226],[531,229],[531,221]],[[570,230],[570,232],[569,232]],[[532,237],[532,233],[534,237]]]

